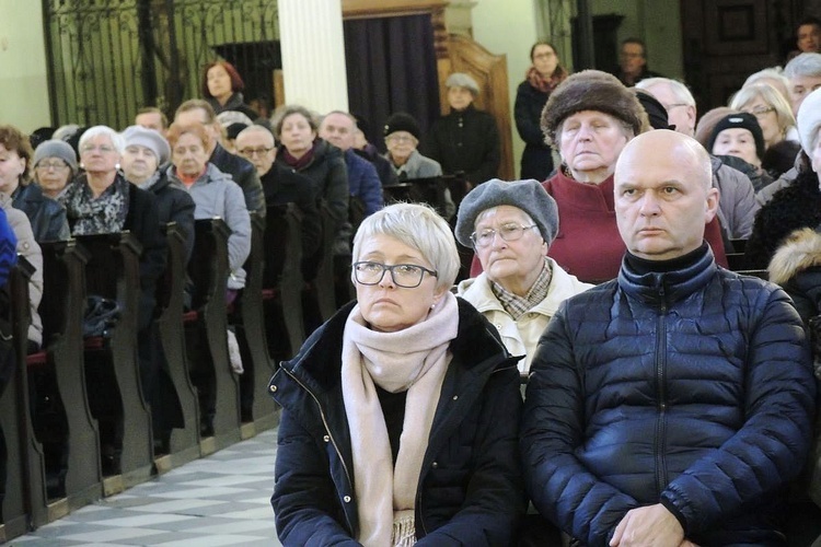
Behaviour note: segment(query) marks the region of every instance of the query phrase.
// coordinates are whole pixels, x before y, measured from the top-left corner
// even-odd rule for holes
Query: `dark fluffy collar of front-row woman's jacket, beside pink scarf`
[[[472,369],[493,356],[507,357],[505,346],[484,316],[466,301],[456,299],[456,302],[459,329],[450,345],[453,360],[466,369]],[[282,363],[282,366],[294,374],[301,373],[300,377],[313,389],[326,392],[335,387],[340,379],[345,323],[355,304],[350,302],[342,307],[327,323],[317,328],[302,345],[299,353]],[[492,336],[486,336],[484,331],[490,333]]]

